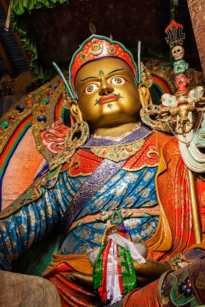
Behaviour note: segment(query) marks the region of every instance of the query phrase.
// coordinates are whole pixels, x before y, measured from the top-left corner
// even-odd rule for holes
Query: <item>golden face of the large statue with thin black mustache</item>
[[[91,130],[139,121],[140,95],[133,73],[120,59],[88,63],[76,76],[78,104]]]

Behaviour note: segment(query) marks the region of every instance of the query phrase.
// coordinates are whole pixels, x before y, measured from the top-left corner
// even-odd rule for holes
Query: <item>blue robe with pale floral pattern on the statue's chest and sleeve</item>
[[[115,208],[131,210],[157,206],[156,172],[157,166],[145,166],[139,171],[119,169],[88,200],[76,219],[103,211],[106,214]],[[62,219],[72,198],[87,178],[83,175],[70,177],[67,171],[59,173],[56,184],[52,188],[44,188],[37,201],[24,205],[16,213],[0,220],[1,269],[12,270],[12,264]],[[124,224],[129,228],[133,242],[142,242],[154,234],[158,219],[158,215],[145,213],[139,217],[125,218]],[[90,248],[101,246],[106,227],[106,221],[98,220],[72,229],[65,237],[59,254],[86,254]]]

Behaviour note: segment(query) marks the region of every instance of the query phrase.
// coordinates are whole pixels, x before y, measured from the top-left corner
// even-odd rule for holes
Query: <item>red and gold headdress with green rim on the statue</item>
[[[75,77],[78,71],[91,61],[107,57],[119,58],[126,62],[132,70],[136,82],[138,84],[141,82],[141,80],[138,81],[138,70],[131,52],[122,44],[113,41],[108,37],[93,34],[74,53],[70,63],[69,82],[73,97],[76,96]]]

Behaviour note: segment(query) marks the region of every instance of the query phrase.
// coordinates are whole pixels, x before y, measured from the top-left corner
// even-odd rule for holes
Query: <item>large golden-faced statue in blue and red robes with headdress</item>
[[[42,274],[62,306],[178,306],[175,294],[185,306],[201,305],[205,293],[190,282],[201,271],[185,269],[204,255],[204,245],[194,245],[187,168],[175,136],[139,124],[149,95],[132,54],[92,35],[69,73],[75,124],[50,170],[1,213],[1,269],[12,271],[62,220],[64,241]],[[204,230],[205,183],[197,179],[196,188]]]

